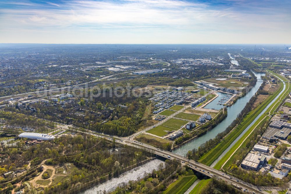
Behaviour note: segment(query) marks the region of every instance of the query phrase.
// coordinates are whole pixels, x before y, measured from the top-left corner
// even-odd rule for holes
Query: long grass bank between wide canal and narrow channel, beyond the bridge
[[[280,87],[273,95],[269,96],[262,104],[258,105],[254,110],[250,111],[242,120],[242,122],[228,134],[219,144],[213,149],[206,152],[199,160],[200,163],[205,165],[211,165],[224,150],[226,150],[230,144],[244,131],[244,129],[253,122],[253,120],[264,110],[264,108],[280,93],[283,88],[283,84],[280,82]],[[287,89],[287,87],[286,87]],[[284,93],[283,93],[284,94]],[[276,103],[276,102],[275,102]],[[272,106],[269,107],[271,109]],[[268,110],[267,110],[268,111]],[[265,115],[262,115],[265,117]],[[226,157],[223,157],[223,159]],[[227,158],[226,158],[227,159]]]

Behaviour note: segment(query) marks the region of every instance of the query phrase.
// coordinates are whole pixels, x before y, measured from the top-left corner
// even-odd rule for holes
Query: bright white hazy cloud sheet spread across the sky
[[[261,14],[267,8],[258,10],[259,14],[246,14],[232,7],[213,8],[203,3],[180,0],[86,0],[67,1],[66,4],[47,3],[54,8],[50,5],[33,4],[29,9],[0,9],[0,24],[3,27],[0,29],[0,36],[10,41],[16,40],[12,37],[13,33],[10,35],[6,32],[18,31],[23,32],[22,37],[29,37],[31,42],[33,38],[47,37],[45,33],[49,33],[56,37],[56,41],[63,41],[65,38],[66,43],[88,43],[87,39],[94,39],[96,36],[102,36],[102,41],[111,41],[110,43],[134,43],[132,41],[138,41],[138,38],[140,41],[136,43],[142,43],[144,40],[156,43],[198,43],[200,39],[204,43],[214,43],[226,41],[229,37],[237,37],[238,40],[242,37],[249,38],[248,33],[264,33],[261,37],[270,36],[278,34],[282,27],[291,30],[288,21],[286,22],[290,14],[270,10],[268,15]],[[237,3],[240,4],[239,1]],[[74,34],[75,38],[63,37],[63,33]],[[107,40],[108,34],[111,37]],[[123,42],[119,42],[120,39]]]

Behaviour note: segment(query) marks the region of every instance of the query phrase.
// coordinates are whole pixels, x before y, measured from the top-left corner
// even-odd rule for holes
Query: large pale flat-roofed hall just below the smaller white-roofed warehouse
[[[241,167],[249,170],[257,170],[259,165],[263,165],[266,161],[266,156],[258,156],[249,153],[241,163]]]

